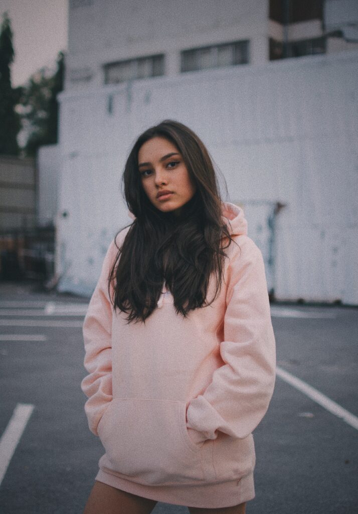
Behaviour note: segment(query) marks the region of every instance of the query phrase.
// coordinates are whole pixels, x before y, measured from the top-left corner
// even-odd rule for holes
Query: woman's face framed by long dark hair
[[[162,212],[179,215],[195,194],[196,186],[175,144],[153,137],[138,152],[138,168],[145,194]],[[166,194],[163,194],[166,193]]]

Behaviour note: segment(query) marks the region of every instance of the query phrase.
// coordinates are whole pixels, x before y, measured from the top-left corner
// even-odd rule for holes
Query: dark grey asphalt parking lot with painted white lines
[[[80,389],[87,303],[0,283],[0,514],[83,510],[103,453]],[[254,432],[247,514],[355,514],[358,309],[271,307],[279,373]],[[160,503],[153,514],[187,512]]]

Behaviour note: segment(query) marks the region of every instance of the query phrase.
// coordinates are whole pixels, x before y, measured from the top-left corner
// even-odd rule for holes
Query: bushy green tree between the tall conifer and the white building
[[[58,141],[59,105],[56,96],[63,89],[64,54],[59,52],[57,69],[50,75],[46,68],[34,73],[20,99],[24,131],[28,134],[24,151],[34,156],[39,146]]]

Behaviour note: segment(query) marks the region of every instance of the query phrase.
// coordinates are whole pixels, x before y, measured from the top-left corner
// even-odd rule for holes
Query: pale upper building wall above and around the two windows
[[[74,7],[76,6],[76,7]],[[85,0],[70,3],[66,89],[101,86],[103,65],[166,54],[166,75],[180,71],[180,50],[250,40],[250,62],[268,59],[267,0]]]

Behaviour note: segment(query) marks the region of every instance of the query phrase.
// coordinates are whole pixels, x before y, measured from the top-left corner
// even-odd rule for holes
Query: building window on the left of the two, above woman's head
[[[118,84],[126,80],[146,79],[164,75],[164,55],[128,59],[104,66],[104,83]]]

